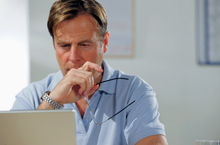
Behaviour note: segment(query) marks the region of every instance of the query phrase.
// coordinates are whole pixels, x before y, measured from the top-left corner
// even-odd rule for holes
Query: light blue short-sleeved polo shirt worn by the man
[[[80,116],[75,103],[65,104],[63,109],[76,110],[76,138],[78,145],[134,145],[151,135],[165,135],[164,125],[159,121],[158,102],[153,89],[138,76],[131,76],[112,69],[103,61],[102,83],[90,99],[89,108]],[[45,79],[31,83],[17,96],[11,110],[35,110],[42,102],[40,97],[47,90],[52,91],[63,78],[61,71],[50,74]],[[127,106],[124,111],[102,125],[92,120],[90,110],[101,123]]]

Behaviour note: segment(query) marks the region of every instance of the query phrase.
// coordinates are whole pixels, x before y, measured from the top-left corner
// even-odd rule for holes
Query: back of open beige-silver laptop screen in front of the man
[[[76,145],[75,111],[0,112],[0,145]]]

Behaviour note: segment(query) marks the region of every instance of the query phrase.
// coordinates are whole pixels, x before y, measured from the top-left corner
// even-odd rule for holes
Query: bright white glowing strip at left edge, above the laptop
[[[28,0],[0,0],[0,110],[29,83]]]

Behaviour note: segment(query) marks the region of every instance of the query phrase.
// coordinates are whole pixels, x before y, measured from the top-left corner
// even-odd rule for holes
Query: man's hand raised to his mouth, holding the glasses
[[[55,89],[50,93],[60,105],[74,103],[82,99],[85,95],[93,94],[99,87],[94,85],[103,70],[99,65],[86,62],[79,69],[71,69],[64,78],[57,84]]]

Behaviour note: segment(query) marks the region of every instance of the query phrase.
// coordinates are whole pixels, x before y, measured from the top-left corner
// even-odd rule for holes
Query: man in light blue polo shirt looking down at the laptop
[[[76,110],[79,145],[167,145],[152,88],[103,60],[109,32],[98,2],[57,0],[48,30],[61,71],[23,89],[12,110]]]

